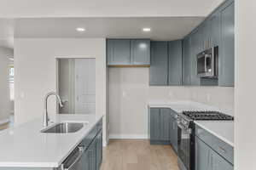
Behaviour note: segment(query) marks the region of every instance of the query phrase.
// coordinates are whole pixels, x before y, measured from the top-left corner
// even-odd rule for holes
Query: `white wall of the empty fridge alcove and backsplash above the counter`
[[[148,102],[193,99],[234,111],[234,88],[149,87],[148,68],[108,68],[108,74],[110,138],[146,138]]]

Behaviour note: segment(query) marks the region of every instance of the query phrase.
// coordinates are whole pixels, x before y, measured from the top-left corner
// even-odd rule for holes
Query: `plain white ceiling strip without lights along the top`
[[[154,17],[207,16],[224,0],[1,0],[0,16]]]

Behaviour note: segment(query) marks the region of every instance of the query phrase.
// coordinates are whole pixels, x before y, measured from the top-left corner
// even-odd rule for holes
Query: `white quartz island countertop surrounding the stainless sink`
[[[0,133],[0,167],[59,167],[101,118],[57,116],[57,122],[89,122],[76,133],[40,133],[40,119],[4,130]]]

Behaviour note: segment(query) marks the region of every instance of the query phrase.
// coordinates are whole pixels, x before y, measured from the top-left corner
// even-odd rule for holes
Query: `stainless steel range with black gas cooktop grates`
[[[218,111],[183,111],[177,116],[178,166],[181,170],[195,169],[194,121],[232,121],[233,116]]]

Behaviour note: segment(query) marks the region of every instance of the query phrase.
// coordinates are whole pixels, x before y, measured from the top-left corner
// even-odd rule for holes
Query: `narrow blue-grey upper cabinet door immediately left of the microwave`
[[[191,62],[191,81],[190,84],[193,86],[200,86],[201,79],[197,76],[197,54],[200,53],[199,46],[200,46],[200,39],[201,35],[198,30],[196,30],[191,35],[191,49],[190,49],[190,62]]]

